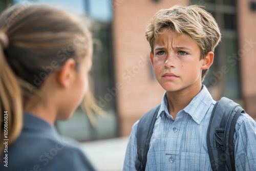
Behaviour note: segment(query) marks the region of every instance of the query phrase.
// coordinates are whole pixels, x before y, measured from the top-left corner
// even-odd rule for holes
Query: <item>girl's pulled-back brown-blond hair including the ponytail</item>
[[[3,111],[8,111],[11,144],[22,129],[26,100],[67,59],[75,59],[78,68],[92,48],[92,38],[77,17],[40,4],[7,9],[0,16],[0,33],[0,135],[4,134]],[[3,145],[1,137],[0,153]]]

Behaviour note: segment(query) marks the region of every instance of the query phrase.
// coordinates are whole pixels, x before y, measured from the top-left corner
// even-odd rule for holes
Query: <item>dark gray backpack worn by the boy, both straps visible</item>
[[[137,127],[136,169],[145,170],[147,152],[153,134],[156,116],[160,105],[145,113]],[[234,127],[239,115],[245,112],[238,103],[222,97],[212,110],[207,130],[207,147],[211,168],[217,170],[235,170],[234,166]]]

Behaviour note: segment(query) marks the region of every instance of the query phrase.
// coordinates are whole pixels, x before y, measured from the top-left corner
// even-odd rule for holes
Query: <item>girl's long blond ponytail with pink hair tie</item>
[[[0,32],[0,154],[18,137],[23,125],[23,102],[17,78],[10,68],[4,49],[9,41],[5,33]],[[4,141],[5,140],[5,141]],[[4,142],[3,142],[4,141]]]

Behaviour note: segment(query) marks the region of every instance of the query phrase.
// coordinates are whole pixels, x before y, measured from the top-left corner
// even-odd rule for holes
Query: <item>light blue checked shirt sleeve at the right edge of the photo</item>
[[[241,114],[234,134],[236,170],[256,170],[256,123],[248,114]]]

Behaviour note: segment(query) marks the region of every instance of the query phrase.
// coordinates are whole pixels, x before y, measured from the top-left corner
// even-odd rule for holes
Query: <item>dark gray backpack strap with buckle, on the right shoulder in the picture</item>
[[[235,170],[234,129],[241,105],[222,97],[214,106],[207,130],[207,148],[212,170]]]

